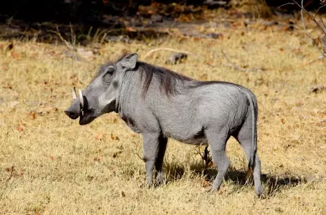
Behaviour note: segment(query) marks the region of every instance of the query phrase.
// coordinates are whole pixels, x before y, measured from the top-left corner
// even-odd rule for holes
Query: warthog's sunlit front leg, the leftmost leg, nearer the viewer
[[[146,186],[152,185],[153,168],[159,152],[160,134],[146,133],[143,136],[143,159],[146,170]],[[165,151],[165,150],[164,150]]]

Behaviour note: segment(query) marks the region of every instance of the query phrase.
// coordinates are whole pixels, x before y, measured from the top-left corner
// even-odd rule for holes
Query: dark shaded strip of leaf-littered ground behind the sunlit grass
[[[75,35],[77,43],[86,45],[97,37],[103,41],[103,33],[99,37],[98,30],[106,30],[104,39],[107,41],[115,41],[120,36],[128,39],[162,37],[166,33],[157,28],[200,21],[204,10],[215,8],[225,9],[218,12],[219,17],[282,19],[291,25],[291,19],[298,20],[295,14],[298,15],[300,8],[294,5],[278,7],[289,2],[291,0],[2,0],[0,38],[36,38],[37,41],[56,43],[61,40],[59,33],[68,41]],[[249,10],[238,12],[244,3],[250,5]],[[320,7],[320,1],[305,0],[304,5],[312,12]],[[322,12],[325,10],[320,10]],[[186,21],[179,19],[182,16]],[[189,17],[195,18],[187,20]],[[190,35],[187,31],[191,32],[191,27],[183,30]]]

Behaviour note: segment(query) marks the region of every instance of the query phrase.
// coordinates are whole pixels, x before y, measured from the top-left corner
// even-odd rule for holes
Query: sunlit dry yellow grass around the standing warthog
[[[325,63],[304,32],[224,30],[224,39],[157,39],[152,45],[110,43],[90,61],[66,57],[66,47],[19,42],[0,54],[1,214],[325,214]],[[228,38],[229,37],[229,38]],[[8,42],[0,41],[3,47]],[[115,113],[79,126],[64,110],[73,85],[85,88],[99,63],[122,49],[140,59],[157,47],[195,52],[185,63],[164,65],[170,52],[146,61],[198,79],[245,85],[258,97],[258,154],[268,196],[258,199],[243,185],[247,161],[234,139],[227,145],[229,179],[207,194],[195,148],[170,140],[164,169],[167,185],[140,188],[144,163],[141,136]],[[240,72],[224,66],[267,68]],[[17,101],[19,103],[17,103]],[[238,179],[237,179],[238,178]],[[304,178],[304,179],[300,179]]]

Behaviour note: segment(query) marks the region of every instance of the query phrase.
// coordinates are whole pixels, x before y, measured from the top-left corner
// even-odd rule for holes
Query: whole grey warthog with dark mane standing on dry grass
[[[143,137],[146,184],[162,183],[162,164],[168,138],[211,148],[218,174],[211,191],[219,189],[229,169],[225,151],[234,136],[245,151],[253,172],[256,194],[262,194],[257,154],[256,97],[247,88],[221,81],[197,81],[171,70],[138,61],[138,54],[124,54],[99,72],[65,113],[79,116],[86,125],[98,116],[117,112],[133,132]]]

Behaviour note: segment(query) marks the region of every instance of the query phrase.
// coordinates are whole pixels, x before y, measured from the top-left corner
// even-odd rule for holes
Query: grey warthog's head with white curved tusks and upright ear
[[[102,65],[97,76],[86,87],[79,89],[79,98],[73,88],[73,103],[64,112],[70,119],[77,119],[79,125],[86,125],[98,116],[109,112],[117,112],[117,98],[122,85],[124,72],[133,70],[138,60],[138,54],[128,54],[116,63]]]

